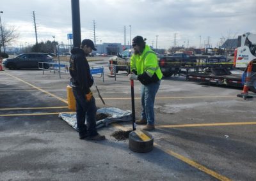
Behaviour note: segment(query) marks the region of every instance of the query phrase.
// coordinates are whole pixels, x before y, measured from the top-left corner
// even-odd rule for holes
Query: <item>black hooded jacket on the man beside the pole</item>
[[[81,48],[73,48],[71,54],[69,66],[71,85],[80,87],[84,94],[88,94],[93,85],[93,79],[90,75],[90,66],[86,55]]]

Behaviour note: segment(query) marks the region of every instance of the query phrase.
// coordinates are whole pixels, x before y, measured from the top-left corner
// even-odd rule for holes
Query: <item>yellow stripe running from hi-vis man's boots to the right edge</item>
[[[177,125],[158,125],[158,128],[172,128],[172,127],[202,127],[202,126],[235,126],[235,125],[252,125],[256,122],[220,122],[220,123],[206,123],[206,124],[177,124]]]

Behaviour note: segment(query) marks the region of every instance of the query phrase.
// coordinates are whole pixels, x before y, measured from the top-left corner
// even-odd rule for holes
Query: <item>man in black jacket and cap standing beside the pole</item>
[[[90,87],[93,85],[93,78],[90,74],[90,66],[86,56],[97,50],[92,40],[85,39],[81,48],[71,50],[70,59],[70,85],[76,98],[76,119],[80,139],[104,140],[105,136],[97,133],[95,115],[97,108],[95,98],[92,96]],[[85,124],[86,120],[86,124]]]

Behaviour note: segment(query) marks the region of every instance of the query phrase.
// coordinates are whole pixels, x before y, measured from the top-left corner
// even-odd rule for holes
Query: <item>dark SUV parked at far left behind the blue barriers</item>
[[[52,57],[45,53],[20,54],[15,58],[3,59],[3,66],[8,69],[20,68],[42,68],[38,62],[52,62]],[[49,68],[49,64],[44,64],[44,68]]]

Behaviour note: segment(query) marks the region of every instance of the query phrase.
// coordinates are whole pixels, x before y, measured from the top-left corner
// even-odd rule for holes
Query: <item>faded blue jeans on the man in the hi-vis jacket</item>
[[[154,103],[160,82],[161,80],[148,85],[141,84],[141,119],[147,119],[151,125],[155,124]]]

